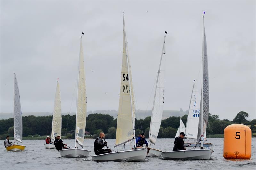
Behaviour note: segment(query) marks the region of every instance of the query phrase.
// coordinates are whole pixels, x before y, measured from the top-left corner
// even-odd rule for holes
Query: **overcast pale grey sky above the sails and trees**
[[[255,119],[256,1],[1,0],[0,112],[13,112],[14,72],[23,112],[53,111],[57,77],[62,112],[75,112],[81,32],[87,111],[117,110],[122,12],[136,109],[152,108],[151,93],[167,31],[164,110],[187,110],[193,80],[200,80],[201,74],[203,11],[209,112],[233,120],[242,110]]]

